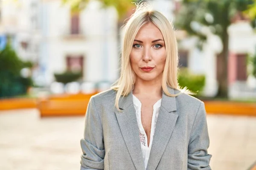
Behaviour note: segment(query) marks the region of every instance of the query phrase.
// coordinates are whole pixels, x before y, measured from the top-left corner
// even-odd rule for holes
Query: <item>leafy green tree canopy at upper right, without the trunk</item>
[[[236,15],[256,22],[256,0],[183,0],[175,26],[189,34],[205,39],[200,28],[208,26],[213,34],[222,38]]]

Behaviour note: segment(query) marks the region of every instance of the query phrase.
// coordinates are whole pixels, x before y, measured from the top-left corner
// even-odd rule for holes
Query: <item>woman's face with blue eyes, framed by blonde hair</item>
[[[145,24],[138,31],[130,54],[136,78],[144,81],[162,79],[165,60],[163,35],[154,24]]]

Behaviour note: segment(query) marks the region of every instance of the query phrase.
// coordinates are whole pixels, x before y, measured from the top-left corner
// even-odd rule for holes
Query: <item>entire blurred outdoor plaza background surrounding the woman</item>
[[[87,103],[118,79],[141,1],[0,1],[0,170],[80,168]],[[212,169],[255,170],[256,0],[147,2],[174,24],[179,85],[205,103]]]

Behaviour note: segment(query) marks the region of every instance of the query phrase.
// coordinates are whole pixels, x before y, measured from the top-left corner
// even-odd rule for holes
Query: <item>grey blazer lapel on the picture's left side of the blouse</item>
[[[136,111],[134,109],[132,92],[128,96],[121,97],[119,108],[115,111],[116,118],[125,140],[126,147],[137,170],[145,170],[144,160],[140,146],[139,128],[137,125]]]

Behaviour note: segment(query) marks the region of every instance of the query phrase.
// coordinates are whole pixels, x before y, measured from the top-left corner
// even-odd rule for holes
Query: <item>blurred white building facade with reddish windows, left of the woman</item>
[[[35,83],[49,86],[55,73],[81,71],[84,82],[118,77],[117,13],[94,0],[72,13],[61,0],[1,3],[0,30],[11,35],[18,56],[36,64]]]

